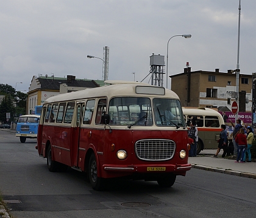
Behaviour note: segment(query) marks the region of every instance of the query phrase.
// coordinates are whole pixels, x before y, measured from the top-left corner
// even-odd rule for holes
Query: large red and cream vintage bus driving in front
[[[87,172],[93,189],[108,178],[128,177],[172,186],[191,169],[188,132],[179,97],[149,84],[108,81],[110,86],[48,98],[37,146],[49,171],[67,166]],[[171,107],[166,118],[163,105]]]

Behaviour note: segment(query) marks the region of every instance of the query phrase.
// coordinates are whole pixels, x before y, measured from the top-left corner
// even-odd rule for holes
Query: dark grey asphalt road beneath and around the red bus
[[[23,217],[255,217],[256,180],[191,169],[172,188],[114,180],[94,191],[85,174],[49,172],[35,150],[0,131],[0,190],[15,218]]]

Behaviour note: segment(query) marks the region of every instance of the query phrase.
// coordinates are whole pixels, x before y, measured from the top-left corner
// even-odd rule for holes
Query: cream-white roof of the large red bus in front
[[[107,83],[108,81],[106,81]],[[94,97],[158,97],[158,98],[174,98],[179,99],[178,95],[172,90],[165,89],[160,86],[152,86],[146,83],[137,83],[127,81],[109,81],[112,83],[110,86],[96,87],[93,89],[84,89],[76,92],[69,92],[66,94],[56,95],[48,98],[44,104],[54,103],[59,101],[71,101],[84,98]]]

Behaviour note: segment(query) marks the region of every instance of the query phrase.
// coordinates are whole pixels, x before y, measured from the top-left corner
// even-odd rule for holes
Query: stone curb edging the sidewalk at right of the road
[[[235,171],[232,169],[215,168],[212,166],[197,165],[196,163],[191,163],[191,166],[192,166],[192,168],[195,168],[195,169],[204,169],[206,171],[221,172],[224,174],[256,179],[256,174],[251,173],[251,172],[241,172],[241,171]]]

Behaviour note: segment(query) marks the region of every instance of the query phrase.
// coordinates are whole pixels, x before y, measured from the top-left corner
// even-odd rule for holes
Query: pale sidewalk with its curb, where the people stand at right
[[[188,158],[188,163],[196,169],[256,179],[256,162],[235,163],[233,159],[222,158],[222,151],[219,152],[218,157],[213,157],[215,152],[216,149],[205,149],[197,157]]]

